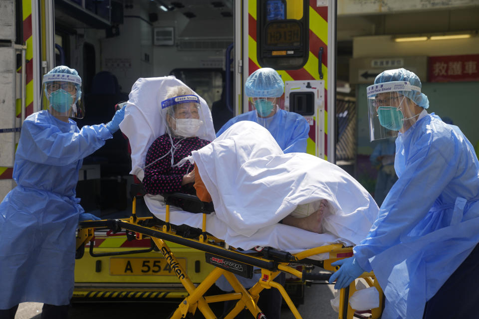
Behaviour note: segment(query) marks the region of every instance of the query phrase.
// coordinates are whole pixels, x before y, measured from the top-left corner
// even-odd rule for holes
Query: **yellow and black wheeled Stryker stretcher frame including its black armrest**
[[[132,187],[132,192],[136,190]],[[132,194],[133,195],[133,194]],[[141,195],[141,194],[140,194]],[[186,318],[194,315],[197,311],[201,312],[207,319],[218,318],[210,308],[210,304],[237,301],[236,306],[231,309],[224,316],[220,318],[232,319],[235,318],[243,309],[247,309],[253,318],[266,318],[257,306],[259,293],[263,289],[277,289],[290,311],[296,319],[300,319],[296,306],[292,302],[285,289],[273,280],[281,272],[296,276],[303,282],[327,281],[331,272],[337,270],[336,267],[331,266],[331,263],[338,259],[347,258],[353,255],[352,247],[345,247],[343,244],[331,244],[320,247],[306,249],[298,253],[289,253],[280,251],[271,247],[261,247],[262,249],[255,249],[250,251],[242,251],[240,248],[229,246],[224,240],[212,236],[206,229],[206,221],[208,215],[213,211],[213,207],[201,202],[196,196],[175,193],[165,195],[166,201],[166,215],[165,220],[160,220],[156,217],[137,217],[136,215],[136,200],[139,194],[133,195],[132,214],[129,218],[124,219],[108,219],[99,221],[83,221],[80,223],[80,228],[77,232],[76,248],[77,253],[84,250],[84,245],[90,242],[94,237],[94,229],[109,229],[113,233],[125,230],[127,235],[132,240],[141,240],[144,238],[151,238],[152,242],[158,249],[174,270],[181,284],[188,292],[188,296],[179,304],[176,311],[170,318]],[[198,204],[198,212],[202,214],[203,223],[202,228],[198,231],[189,232],[186,236],[184,233],[178,232],[178,227],[170,223],[170,216],[175,212],[170,213],[169,200],[173,197],[180,197],[183,200],[192,200]],[[206,262],[215,266],[214,270],[205,278],[205,280],[195,286],[195,284],[188,277],[188,273],[180,265],[167,242],[184,245],[193,249],[198,249],[205,252]],[[143,251],[123,252],[122,254],[130,254]],[[90,245],[90,253],[95,256],[93,252],[93,245]],[[81,255],[81,253],[80,253]],[[327,256],[322,260],[315,259],[315,256]],[[309,270],[298,271],[297,265],[314,265],[328,271],[328,273],[312,273]],[[256,268],[256,270],[254,270]],[[261,276],[258,282],[250,289],[245,289],[237,276],[251,278],[254,271],[259,269]],[[310,269],[310,268],[303,268]],[[233,293],[222,295],[205,296],[205,293],[215,284],[218,278],[223,275],[233,287]],[[382,290],[379,287],[377,280],[373,273],[364,273],[361,278],[368,287],[375,287],[380,296],[379,305],[383,305],[384,297]],[[382,306],[367,311],[355,311],[349,305],[349,298],[356,291],[355,283],[353,282],[349,287],[340,290],[339,303],[339,319],[352,318],[370,318],[377,319],[381,317]]]

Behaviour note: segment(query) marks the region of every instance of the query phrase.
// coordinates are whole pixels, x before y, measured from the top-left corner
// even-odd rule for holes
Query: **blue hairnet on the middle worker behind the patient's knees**
[[[277,98],[283,94],[284,83],[274,69],[261,68],[248,76],[244,91],[248,97]]]

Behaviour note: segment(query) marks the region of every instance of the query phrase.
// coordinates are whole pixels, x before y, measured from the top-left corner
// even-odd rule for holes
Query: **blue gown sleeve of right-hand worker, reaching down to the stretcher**
[[[381,205],[368,235],[353,249],[365,271],[371,271],[370,258],[408,236],[455,176],[457,164],[450,159],[457,157],[459,150],[458,145],[451,147],[450,139],[429,133],[409,147],[405,170]]]

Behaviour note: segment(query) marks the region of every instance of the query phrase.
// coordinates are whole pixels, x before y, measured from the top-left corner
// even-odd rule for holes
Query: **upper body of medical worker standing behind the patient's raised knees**
[[[284,83],[271,68],[257,69],[246,79],[244,92],[255,110],[229,120],[216,136],[240,121],[252,121],[265,127],[284,153],[306,152],[309,124],[301,115],[278,107]]]

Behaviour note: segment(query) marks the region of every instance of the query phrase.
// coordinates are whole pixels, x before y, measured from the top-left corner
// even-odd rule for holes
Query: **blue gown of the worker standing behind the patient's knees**
[[[265,127],[285,154],[306,152],[309,125],[306,119],[297,113],[278,109],[278,112],[270,118],[259,118],[255,110],[249,111],[226,122],[216,136],[220,136],[230,126],[240,121],[252,121]]]

